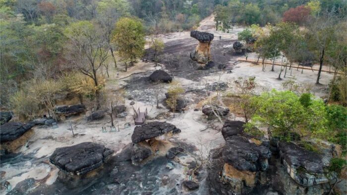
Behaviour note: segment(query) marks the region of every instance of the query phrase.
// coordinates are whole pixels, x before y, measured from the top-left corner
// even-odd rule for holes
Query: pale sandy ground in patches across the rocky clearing
[[[198,30],[213,33],[215,39],[237,39],[237,33],[242,31],[242,27],[234,27],[231,33],[223,33],[215,30],[215,23],[213,21],[214,16],[211,15],[201,21]],[[174,41],[185,41],[190,38],[189,32],[182,33],[172,33],[160,36],[164,42],[174,42]],[[191,41],[191,40],[189,40]],[[232,44],[232,43],[231,43]],[[230,44],[230,45],[231,45]],[[230,47],[226,45],[226,47]],[[191,49],[194,49],[192,47]],[[255,54],[249,54],[249,57],[255,57]],[[312,92],[317,96],[324,96],[327,92],[327,83],[332,78],[332,74],[322,73],[321,85],[315,85],[315,78],[317,73],[312,73],[312,71],[304,70],[303,74],[301,71],[292,70],[291,76],[290,71],[287,73],[287,77],[283,80],[276,79],[279,73],[279,67],[275,67],[275,72],[270,71],[270,65],[266,67],[263,72],[261,65],[254,66],[250,63],[238,63],[234,66],[233,62],[230,62],[233,66],[231,74],[224,72],[214,73],[204,78],[198,79],[199,81],[193,81],[187,78],[175,77],[174,79],[181,82],[184,88],[191,87],[203,87],[206,82],[213,82],[220,79],[220,81],[228,82],[231,90],[233,88],[232,82],[238,77],[256,77],[258,83],[258,92],[268,91],[271,88],[276,88],[282,90],[283,87],[281,83],[284,80],[296,78],[296,81],[305,85],[312,87]],[[122,73],[117,70],[110,70],[110,78],[107,79],[107,88],[111,89],[114,93],[120,87],[126,85],[127,79],[136,74],[142,74],[147,72],[152,72],[156,69],[163,68],[164,66],[155,67],[152,63],[143,63],[140,61],[134,67],[130,67],[128,72]],[[118,74],[118,75],[117,75]],[[167,88],[168,86],[166,86]],[[12,189],[18,184],[18,182],[23,181],[26,178],[34,178],[36,180],[44,180],[46,185],[51,185],[55,182],[57,178],[58,169],[49,163],[48,157],[54,152],[58,147],[71,146],[81,142],[97,142],[106,145],[113,150],[115,153],[119,152],[126,144],[131,142],[131,134],[134,129],[133,122],[133,110],[129,105],[131,100],[126,100],[125,105],[127,106],[127,117],[117,118],[116,126],[119,124],[120,131],[109,132],[111,119],[107,116],[104,119],[87,122],[85,116],[73,117],[70,121],[63,121],[58,123],[58,128],[51,127],[40,127],[35,126],[33,129],[35,131],[34,136],[29,140],[27,147],[23,146],[18,152],[23,155],[33,155],[34,159],[26,161],[23,159],[16,163],[2,163],[1,171],[4,171],[4,177],[1,178],[1,182],[9,181]],[[140,110],[148,109],[149,118],[156,117],[159,113],[168,112],[167,109],[157,109],[155,106],[155,100],[152,98],[149,102],[136,101],[134,108],[140,108]],[[160,105],[164,107],[163,105]],[[173,118],[172,116],[166,119],[161,119],[161,121],[167,121],[176,125],[177,128],[182,130],[178,135],[174,137],[180,141],[185,141],[191,144],[202,143],[213,143],[213,147],[217,147],[224,143],[223,136],[218,130],[212,128],[207,128],[207,124],[204,121],[205,116],[201,111],[193,111],[195,104],[188,107],[188,110],[184,113],[176,114]],[[172,115],[172,114],[171,114]],[[231,118],[232,115],[231,115]],[[238,118],[242,119],[242,118]],[[147,120],[151,121],[151,120]],[[131,126],[124,128],[124,123],[130,122]],[[72,136],[71,127],[76,136]],[[221,125],[221,124],[220,124]],[[102,132],[102,126],[106,126],[108,132]],[[45,179],[44,179],[45,178]],[[5,190],[0,192],[0,195],[6,194]]]

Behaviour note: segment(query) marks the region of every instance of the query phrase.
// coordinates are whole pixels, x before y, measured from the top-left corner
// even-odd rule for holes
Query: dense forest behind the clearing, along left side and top
[[[346,15],[346,0],[319,2],[321,10]],[[113,56],[119,49],[112,39],[117,39],[116,22],[121,17],[138,18],[144,33],[150,35],[192,30],[215,12],[217,24],[225,30],[234,24],[276,24],[290,8],[307,3],[308,0],[1,0],[0,106],[9,109],[20,101],[23,105],[21,94],[28,94],[30,87],[38,83],[45,86],[47,82],[43,80],[61,80],[76,70],[73,65],[78,51],[70,44],[76,29],[93,32],[96,46],[91,49],[101,51],[99,46],[107,45]],[[115,57],[114,61],[116,66]],[[26,101],[32,102],[28,98]]]

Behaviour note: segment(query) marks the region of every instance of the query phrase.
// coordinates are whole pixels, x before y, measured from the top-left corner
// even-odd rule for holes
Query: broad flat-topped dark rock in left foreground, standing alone
[[[50,162],[70,175],[83,175],[100,167],[113,152],[102,144],[83,142],[57,148]]]

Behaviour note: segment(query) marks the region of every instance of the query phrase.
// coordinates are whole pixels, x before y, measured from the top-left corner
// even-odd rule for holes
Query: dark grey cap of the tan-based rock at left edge
[[[25,132],[27,132],[31,127],[33,127],[35,122],[7,122],[0,126],[0,142],[12,141],[20,136],[22,136]]]

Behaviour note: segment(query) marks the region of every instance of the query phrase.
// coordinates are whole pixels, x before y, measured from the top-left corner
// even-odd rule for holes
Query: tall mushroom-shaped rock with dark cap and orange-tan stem
[[[207,64],[212,59],[210,45],[214,35],[206,32],[191,31],[190,37],[199,41],[199,44],[196,46],[195,50],[190,53],[190,59],[199,63]]]

